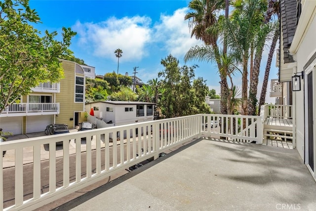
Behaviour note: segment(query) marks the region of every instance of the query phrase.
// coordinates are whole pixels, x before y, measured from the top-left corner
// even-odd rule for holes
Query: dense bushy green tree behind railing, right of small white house
[[[164,70],[158,73],[160,95],[158,107],[166,118],[181,117],[199,113],[209,113],[205,103],[208,87],[202,78],[195,79],[195,69],[179,66],[179,61],[172,55],[161,60]],[[156,86],[157,87],[157,86]]]

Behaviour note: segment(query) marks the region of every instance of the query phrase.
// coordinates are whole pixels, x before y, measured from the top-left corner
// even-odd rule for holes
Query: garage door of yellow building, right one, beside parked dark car
[[[49,124],[53,124],[53,115],[27,116],[26,133],[43,132]]]

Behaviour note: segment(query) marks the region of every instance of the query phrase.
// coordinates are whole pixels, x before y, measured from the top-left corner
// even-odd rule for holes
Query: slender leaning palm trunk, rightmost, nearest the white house
[[[279,30],[277,27],[276,31],[275,31],[275,35],[274,35],[272,43],[271,43],[271,48],[270,48],[270,52],[269,52],[269,56],[268,56],[268,60],[267,60],[265,76],[263,79],[263,84],[262,84],[262,89],[261,89],[261,94],[260,94],[259,108],[266,101],[266,92],[267,92],[267,86],[268,86],[268,81],[269,81],[270,68],[271,68],[272,58],[273,58],[273,54],[274,54],[274,51],[276,48],[276,42],[277,42],[278,38],[279,38]]]

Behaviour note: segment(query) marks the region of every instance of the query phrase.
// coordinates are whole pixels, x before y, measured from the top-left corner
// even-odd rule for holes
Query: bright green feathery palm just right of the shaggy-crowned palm
[[[243,114],[248,114],[248,61],[250,49],[262,25],[263,0],[243,0],[236,1],[230,19],[226,19],[223,27],[225,38],[229,49],[237,58],[237,63],[242,66],[242,110]],[[260,17],[262,17],[260,19]]]

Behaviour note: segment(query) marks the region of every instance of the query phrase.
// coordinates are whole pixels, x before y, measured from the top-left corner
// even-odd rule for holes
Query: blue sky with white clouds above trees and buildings
[[[185,65],[183,57],[191,46],[200,45],[191,34],[188,22],[184,20],[189,11],[189,0],[30,0],[41,24],[35,27],[40,31],[61,32],[70,27],[77,32],[70,49],[74,55],[95,67],[96,74],[117,72],[118,59],[114,51],[120,48],[120,74],[131,75],[137,68],[137,77],[147,82],[158,78],[163,70],[160,64],[169,54]],[[262,71],[259,76],[258,92],[264,75],[269,48],[265,50]],[[277,68],[273,60],[270,79],[276,78]],[[220,78],[217,68],[211,63],[192,61],[197,64],[196,78],[206,80],[209,88],[220,92]],[[241,75],[237,74],[234,83],[241,86]],[[270,91],[270,86],[268,87]],[[274,102],[274,98],[267,101]]]

